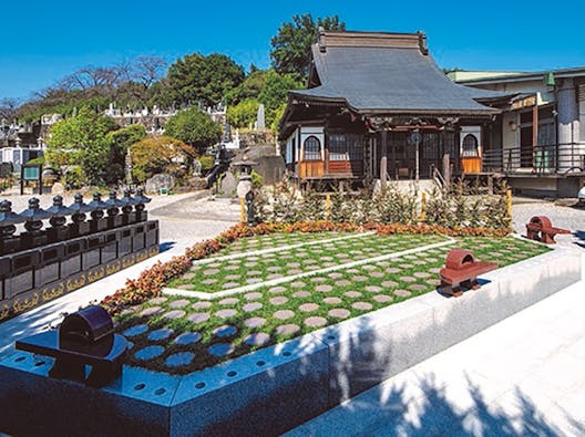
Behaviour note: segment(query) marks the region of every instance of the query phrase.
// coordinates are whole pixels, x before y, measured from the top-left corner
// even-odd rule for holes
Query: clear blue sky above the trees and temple
[[[74,70],[137,55],[218,52],[269,65],[270,38],[292,14],[337,14],[349,30],[427,33],[442,67],[585,66],[585,1],[4,1],[0,98],[28,98]],[[23,6],[24,4],[24,6]]]

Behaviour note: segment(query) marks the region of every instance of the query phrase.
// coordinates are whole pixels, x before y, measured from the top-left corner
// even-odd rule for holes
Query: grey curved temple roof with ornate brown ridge
[[[362,114],[500,112],[474,98],[503,94],[453,83],[428,54],[422,33],[321,32],[312,60],[320,85],[292,91],[292,98],[347,103]]]

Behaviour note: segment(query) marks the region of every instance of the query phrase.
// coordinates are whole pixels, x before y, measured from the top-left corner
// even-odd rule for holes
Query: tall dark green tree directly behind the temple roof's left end
[[[292,15],[292,22],[283,23],[276,37],[270,40],[270,59],[278,73],[294,74],[306,79],[309,74],[310,46],[317,40],[317,31],[346,30],[346,24],[337,15],[318,18],[309,14]]]

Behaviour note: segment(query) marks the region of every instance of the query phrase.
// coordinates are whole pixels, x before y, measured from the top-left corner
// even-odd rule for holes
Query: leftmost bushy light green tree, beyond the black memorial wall
[[[58,166],[80,165],[86,183],[101,184],[107,173],[107,133],[116,128],[112,118],[84,106],[51,127],[47,160]]]

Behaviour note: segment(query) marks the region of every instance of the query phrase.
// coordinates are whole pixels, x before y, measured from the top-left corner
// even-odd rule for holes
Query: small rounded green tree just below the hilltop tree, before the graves
[[[179,139],[199,153],[222,139],[222,127],[196,107],[191,107],[168,118],[165,135]]]

